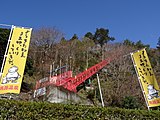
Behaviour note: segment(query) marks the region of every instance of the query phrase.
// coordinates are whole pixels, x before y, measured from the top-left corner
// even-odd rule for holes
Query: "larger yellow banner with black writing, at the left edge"
[[[13,28],[2,76],[0,94],[20,93],[32,29]]]

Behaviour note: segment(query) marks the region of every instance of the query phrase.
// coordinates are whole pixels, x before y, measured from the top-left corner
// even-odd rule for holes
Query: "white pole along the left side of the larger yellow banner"
[[[4,63],[5,63],[5,61],[6,61],[6,57],[7,57],[7,53],[8,53],[8,48],[9,48],[9,44],[10,44],[11,36],[12,36],[12,32],[13,32],[13,28],[14,28],[14,25],[12,25],[11,31],[10,31],[10,34],[9,34],[6,51],[5,51],[4,58],[3,58],[3,62],[2,62],[2,66],[1,66],[1,75],[3,74]],[[0,75],[0,77],[1,77],[1,75]]]

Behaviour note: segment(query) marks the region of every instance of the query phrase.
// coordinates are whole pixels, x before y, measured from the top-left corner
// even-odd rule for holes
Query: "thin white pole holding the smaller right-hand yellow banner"
[[[138,51],[138,52],[139,52],[139,51]],[[143,93],[143,96],[144,96],[144,99],[145,99],[147,108],[148,108],[148,110],[150,110],[150,107],[149,107],[149,105],[148,105],[147,98],[146,98],[146,96],[145,96],[145,91],[144,91],[144,89],[143,89],[143,87],[142,87],[142,84],[141,84],[141,82],[140,82],[140,77],[139,77],[139,75],[138,75],[138,71],[137,71],[137,68],[136,68],[136,64],[135,64],[134,59],[133,59],[133,53],[130,53],[130,54],[131,54],[131,59],[132,59],[132,62],[133,62],[133,65],[134,65],[134,68],[135,68],[135,71],[136,71],[136,74],[137,74],[137,77],[138,77],[138,82],[139,82],[139,84],[140,84],[140,87],[141,87],[141,90],[142,90],[142,93]]]

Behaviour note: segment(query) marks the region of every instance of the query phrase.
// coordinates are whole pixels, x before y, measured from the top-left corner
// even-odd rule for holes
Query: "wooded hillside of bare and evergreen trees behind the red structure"
[[[2,64],[9,31],[0,29],[0,65]],[[158,40],[157,40],[158,43]],[[49,76],[50,65],[54,69],[66,66],[76,75],[106,58],[116,58],[99,71],[105,106],[146,109],[145,100],[137,80],[130,53],[146,48],[155,76],[160,81],[160,49],[150,48],[141,40],[132,42],[126,39],[119,43],[105,28],[97,28],[82,38],[76,34],[65,39],[64,34],[56,28],[33,30],[24,81],[34,87],[36,80]],[[90,86],[93,89],[86,89]],[[97,78],[92,76],[79,86],[78,94],[90,99],[95,106],[100,103]]]

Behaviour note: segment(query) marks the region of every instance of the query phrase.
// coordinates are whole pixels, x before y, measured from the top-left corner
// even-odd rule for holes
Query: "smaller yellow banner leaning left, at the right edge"
[[[156,107],[160,105],[159,86],[153,69],[151,67],[148,55],[145,49],[135,52],[132,55],[138,79],[142,86],[148,107]]]

